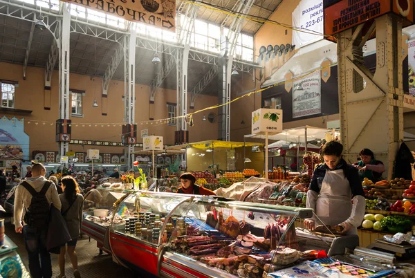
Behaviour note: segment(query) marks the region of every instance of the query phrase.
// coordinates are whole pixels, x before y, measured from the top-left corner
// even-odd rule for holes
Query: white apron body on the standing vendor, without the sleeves
[[[317,196],[315,214],[325,225],[338,225],[349,219],[352,206],[350,184],[343,170],[326,170]],[[316,225],[322,223],[317,220]],[[352,228],[348,234],[357,234],[357,228]]]

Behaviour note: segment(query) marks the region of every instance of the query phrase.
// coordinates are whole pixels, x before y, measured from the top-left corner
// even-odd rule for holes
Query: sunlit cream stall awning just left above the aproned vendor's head
[[[307,131],[307,138],[306,138]],[[326,133],[331,133],[330,129],[323,129],[320,127],[296,127],[294,129],[284,129],[282,133],[278,133],[272,136],[268,136],[269,140],[284,140],[287,142],[300,143],[310,142],[313,140],[321,140],[326,136]],[[264,135],[250,134],[246,135],[246,138],[261,138],[265,139]]]

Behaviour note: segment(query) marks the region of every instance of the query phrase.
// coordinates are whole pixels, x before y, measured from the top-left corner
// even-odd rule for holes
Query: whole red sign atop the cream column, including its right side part
[[[412,0],[324,0],[324,35],[334,35],[389,12],[404,19],[403,26],[414,21]]]

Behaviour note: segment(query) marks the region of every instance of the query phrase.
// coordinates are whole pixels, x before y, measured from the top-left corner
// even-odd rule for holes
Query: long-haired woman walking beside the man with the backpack
[[[80,194],[79,186],[75,178],[66,176],[62,178],[62,189],[64,194],[59,195],[62,201],[62,216],[66,221],[69,234],[72,240],[62,246],[60,254],[58,255],[60,275],[57,278],[64,278],[65,276],[65,253],[68,252],[69,258],[73,266],[73,276],[80,278],[80,272],[77,270],[77,254],[75,247],[77,238],[80,236],[82,225],[82,210],[84,208],[84,197]]]

